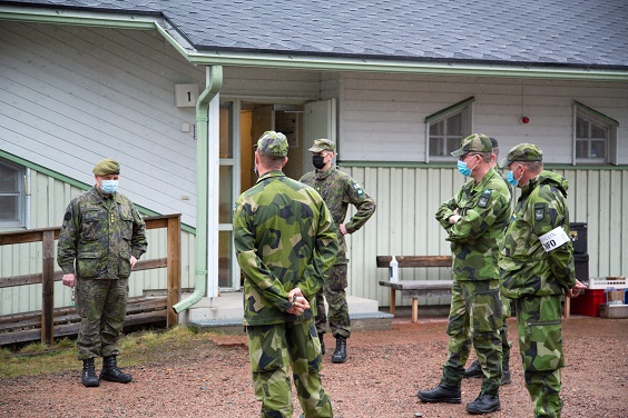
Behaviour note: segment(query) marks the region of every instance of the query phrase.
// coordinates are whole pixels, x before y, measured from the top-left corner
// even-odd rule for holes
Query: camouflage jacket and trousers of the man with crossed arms
[[[448,219],[457,209],[461,218],[452,225]],[[510,193],[494,169],[490,169],[477,185],[474,180],[464,183],[436,211],[436,220],[448,232],[452,252],[449,358],[442,378],[447,386],[460,387],[473,342],[484,372],[482,390],[498,395],[502,368],[500,330],[504,317],[499,295],[497,249],[509,216]]]

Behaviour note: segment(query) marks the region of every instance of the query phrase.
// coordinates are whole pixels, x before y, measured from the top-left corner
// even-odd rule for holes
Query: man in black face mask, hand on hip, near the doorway
[[[351,337],[351,320],[349,319],[345,293],[349,259],[346,258],[344,236],[355,232],[366,223],[375,212],[375,201],[362,189],[357,181],[333,166],[335,149],[334,142],[328,139],[315,140],[310,151],[314,153],[312,163],[316,170],[307,172],[300,181],[313,187],[321,193],[338,227],[338,256],[330,278],[316,295],[316,331],[321,339],[322,351],[325,354],[323,334],[327,324],[325,316],[325,299],[327,299],[330,328],[336,339],[336,349],[332,355],[332,362],[345,362],[346,339]],[[356,211],[351,220],[344,223],[349,205],[353,205]]]

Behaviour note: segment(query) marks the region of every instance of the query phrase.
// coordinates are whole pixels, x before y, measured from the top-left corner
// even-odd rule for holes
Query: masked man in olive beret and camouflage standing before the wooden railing
[[[104,159],[92,171],[96,185],[68,205],[57,248],[63,285],[76,285],[81,317],[78,359],[87,387],[98,386],[99,379],[122,384],[133,379],[117,367],[116,356],[120,354],[128,278],[147,248],[144,220],[134,203],[116,192],[120,165]],[[96,357],[104,358],[99,378]]]

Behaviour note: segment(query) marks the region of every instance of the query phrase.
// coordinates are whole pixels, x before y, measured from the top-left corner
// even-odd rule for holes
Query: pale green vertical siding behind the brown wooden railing
[[[35,170],[31,170],[30,179],[31,228],[60,226],[69,201],[84,190]],[[166,230],[149,230],[147,239],[147,259],[167,256]],[[193,233],[181,231],[181,288],[194,287],[194,240]],[[55,270],[60,270],[56,263]],[[41,272],[40,242],[0,246],[0,277],[39,272]],[[166,275],[166,269],[134,272],[129,280],[129,296],[165,295]],[[70,305],[70,289],[61,282],[55,282],[55,296],[56,308]],[[41,285],[0,289],[0,315],[39,309],[41,309]]]

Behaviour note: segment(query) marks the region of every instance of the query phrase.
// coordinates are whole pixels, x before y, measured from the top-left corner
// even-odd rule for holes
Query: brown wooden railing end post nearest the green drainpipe
[[[166,297],[166,327],[171,328],[179,322],[179,316],[173,309],[180,299],[181,281],[181,246],[180,215],[168,218],[166,239],[168,241],[168,289]]]

